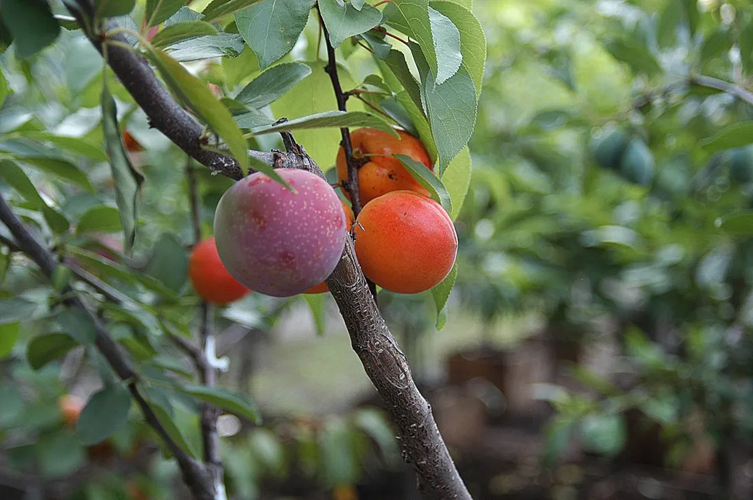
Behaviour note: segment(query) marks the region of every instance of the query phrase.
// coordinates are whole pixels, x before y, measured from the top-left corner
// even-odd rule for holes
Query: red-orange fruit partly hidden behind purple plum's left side
[[[227,304],[248,293],[222,265],[215,238],[200,241],[188,259],[188,277],[197,295],[214,304]]]

